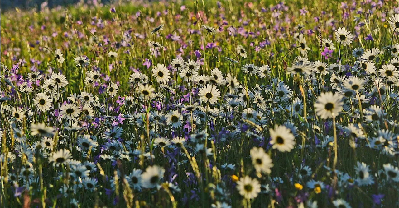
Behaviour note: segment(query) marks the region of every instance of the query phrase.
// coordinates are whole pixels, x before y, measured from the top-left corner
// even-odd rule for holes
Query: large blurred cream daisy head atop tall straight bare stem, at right
[[[336,117],[342,111],[343,105],[342,95],[332,92],[321,93],[314,103],[314,110],[320,118],[328,119]]]

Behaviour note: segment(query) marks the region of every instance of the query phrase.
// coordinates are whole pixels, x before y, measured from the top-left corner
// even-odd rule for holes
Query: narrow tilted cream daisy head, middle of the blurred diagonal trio
[[[271,173],[271,168],[273,167],[273,160],[268,154],[266,154],[263,148],[254,147],[249,151],[252,158],[252,164],[258,173]]]

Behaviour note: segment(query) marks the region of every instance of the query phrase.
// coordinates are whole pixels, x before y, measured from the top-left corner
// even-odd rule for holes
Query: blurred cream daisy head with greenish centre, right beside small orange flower
[[[261,192],[261,184],[257,179],[251,179],[246,175],[237,181],[237,190],[244,198],[253,199]]]

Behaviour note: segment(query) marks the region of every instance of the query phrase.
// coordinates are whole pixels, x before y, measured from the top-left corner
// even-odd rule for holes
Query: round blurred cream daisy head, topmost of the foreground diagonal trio
[[[291,152],[294,149],[295,137],[289,128],[283,125],[275,125],[275,128],[269,128],[269,131],[270,144],[273,145],[273,149],[277,149],[280,152]]]

